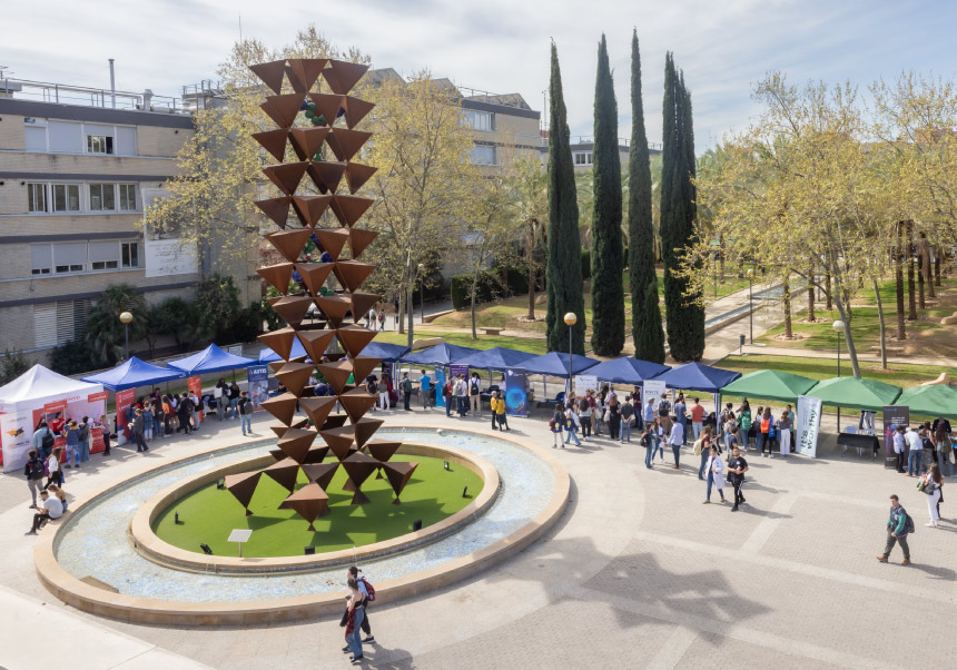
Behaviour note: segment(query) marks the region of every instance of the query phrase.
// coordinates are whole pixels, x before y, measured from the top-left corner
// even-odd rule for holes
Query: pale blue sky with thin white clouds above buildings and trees
[[[866,88],[904,70],[957,76],[951,0],[83,0],[9,3],[0,12],[0,66],[19,79],[178,96],[216,78],[241,35],[279,47],[309,23],[373,67],[428,69],[460,86],[521,93],[546,111],[550,40],[559,49],[573,138],[593,134],[598,42],[605,33],[619,107],[631,135],[631,32],[638,29],[649,141],[661,141],[664,55],[684,70],[698,152],[743,130],[770,71],[802,83]],[[545,117],[546,114],[543,114]]]

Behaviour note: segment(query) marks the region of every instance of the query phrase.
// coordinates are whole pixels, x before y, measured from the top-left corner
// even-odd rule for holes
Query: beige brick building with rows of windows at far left
[[[141,227],[191,135],[149,91],[0,79],[0,351],[47,362],[111,284],[151,304],[196,285],[197,255]]]

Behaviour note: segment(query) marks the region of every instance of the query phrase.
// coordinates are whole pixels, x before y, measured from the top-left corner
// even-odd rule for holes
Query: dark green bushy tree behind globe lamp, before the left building
[[[112,366],[125,355],[126,327],[119,315],[132,314],[129,323],[129,342],[142,339],[146,334],[149,312],[142,294],[130,284],[114,284],[100,295],[87,321],[86,341],[93,352],[97,365]],[[130,354],[132,352],[130,351]]]

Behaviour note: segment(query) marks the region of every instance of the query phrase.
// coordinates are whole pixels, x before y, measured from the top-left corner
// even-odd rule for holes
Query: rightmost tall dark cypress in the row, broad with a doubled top
[[[674,69],[668,53],[664,62],[662,106],[664,149],[661,175],[661,244],[664,260],[664,307],[668,313],[668,345],[675,361],[700,361],[704,353],[704,309],[695,296],[687,295],[688,279],[675,276],[694,244],[694,136],[691,96],[684,76]]]

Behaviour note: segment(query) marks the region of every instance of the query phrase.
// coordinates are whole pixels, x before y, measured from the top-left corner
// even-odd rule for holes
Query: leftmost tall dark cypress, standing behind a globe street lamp
[[[547,312],[545,328],[550,352],[569,349],[566,312],[574,312],[572,351],[585,353],[585,300],[582,288],[582,243],[579,237],[579,203],[569,124],[562,96],[559,51],[552,42],[552,76],[549,83],[549,258],[545,268]]]

